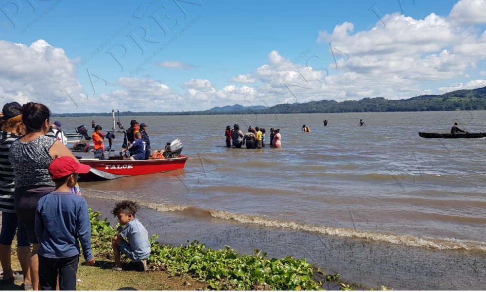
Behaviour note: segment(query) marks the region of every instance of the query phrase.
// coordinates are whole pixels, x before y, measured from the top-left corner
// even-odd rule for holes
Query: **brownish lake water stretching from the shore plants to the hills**
[[[121,122],[132,118],[148,125],[152,149],[180,138],[190,159],[180,171],[81,183],[88,203],[113,223],[114,200],[135,199],[143,206],[137,217],[162,243],[198,240],[241,254],[305,257],[327,274],[375,288],[486,289],[486,140],[417,134],[449,132],[454,122],[485,131],[485,111]],[[68,132],[91,119],[59,118]],[[112,125],[109,117],[94,119],[104,132]],[[282,148],[227,148],[224,131],[233,124],[243,132],[266,128],[267,144],[269,129],[280,128]],[[312,132],[302,133],[303,124]]]

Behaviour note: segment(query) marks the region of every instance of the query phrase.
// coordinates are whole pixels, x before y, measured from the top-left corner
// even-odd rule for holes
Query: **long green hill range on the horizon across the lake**
[[[328,112],[382,112],[427,110],[486,110],[486,87],[457,90],[440,95],[420,95],[409,99],[388,100],[383,97],[365,97],[361,100],[320,100],[307,103],[279,104],[271,108],[242,105],[214,107],[210,110],[183,112],[120,112],[121,116],[195,115],[195,114],[264,114],[264,113],[328,113]],[[106,113],[62,113],[52,116],[110,116]]]

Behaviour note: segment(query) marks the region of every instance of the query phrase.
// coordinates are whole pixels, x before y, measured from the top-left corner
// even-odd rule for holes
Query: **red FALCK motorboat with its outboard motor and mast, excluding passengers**
[[[117,123],[118,129],[115,126],[114,110],[112,110],[112,116],[112,129],[115,132],[122,133],[125,142],[128,141],[126,131],[120,121]],[[174,141],[169,141],[165,146],[165,152],[162,156],[165,157],[165,159],[130,160],[128,158],[128,151],[126,152],[126,156],[111,156],[108,152],[108,157],[106,160],[101,160],[98,158],[80,159],[80,163],[89,165],[91,169],[86,174],[79,174],[79,181],[92,182],[113,180],[124,176],[144,175],[181,169],[184,168],[184,165],[188,159],[186,156],[180,155],[182,148],[182,141],[175,139]]]

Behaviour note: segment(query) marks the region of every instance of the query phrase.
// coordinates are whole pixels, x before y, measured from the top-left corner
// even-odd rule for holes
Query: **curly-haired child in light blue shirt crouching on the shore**
[[[111,211],[118,217],[120,227],[118,235],[113,237],[112,247],[115,254],[115,266],[113,270],[121,271],[121,254],[133,261],[141,261],[143,270],[147,271],[147,258],[150,256],[150,242],[147,230],[135,218],[135,213],[139,210],[139,204],[134,201],[124,200],[118,202]],[[125,237],[128,239],[125,240]]]

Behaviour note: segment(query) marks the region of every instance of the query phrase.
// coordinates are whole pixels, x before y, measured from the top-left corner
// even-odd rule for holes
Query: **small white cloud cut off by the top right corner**
[[[484,24],[486,0],[460,0],[452,7],[449,18],[463,24]]]

